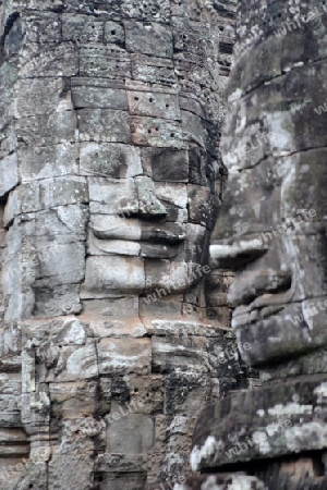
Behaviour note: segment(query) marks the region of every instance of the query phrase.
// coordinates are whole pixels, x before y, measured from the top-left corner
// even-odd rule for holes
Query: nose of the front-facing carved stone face
[[[143,218],[165,218],[167,209],[157,198],[154,181],[147,176],[135,177],[137,197],[138,197],[138,216]]]

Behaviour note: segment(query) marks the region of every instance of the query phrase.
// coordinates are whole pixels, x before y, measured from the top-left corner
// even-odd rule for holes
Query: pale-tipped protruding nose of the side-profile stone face
[[[267,244],[261,238],[216,244],[210,246],[210,262],[213,267],[237,270],[262,257],[268,249]]]

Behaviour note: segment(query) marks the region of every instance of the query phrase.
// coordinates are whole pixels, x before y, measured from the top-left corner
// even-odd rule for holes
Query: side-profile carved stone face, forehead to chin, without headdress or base
[[[305,107],[290,111],[289,99],[280,100],[280,82],[263,85],[255,96],[234,102],[222,140],[230,176],[213,257],[237,271],[229,295],[233,327],[239,342],[252,345],[243,353],[252,365],[288,359],[327,342],[326,150],[301,151],[308,133],[312,146],[324,145],[322,120],[313,122],[322,94],[307,95],[303,72],[292,73],[296,96],[290,98],[306,95]],[[286,78],[287,86],[291,75]]]

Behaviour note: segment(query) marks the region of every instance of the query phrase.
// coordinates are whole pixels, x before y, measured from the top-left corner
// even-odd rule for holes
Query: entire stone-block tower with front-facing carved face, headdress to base
[[[175,481],[241,369],[229,277],[204,289],[233,2],[0,19],[1,489]]]

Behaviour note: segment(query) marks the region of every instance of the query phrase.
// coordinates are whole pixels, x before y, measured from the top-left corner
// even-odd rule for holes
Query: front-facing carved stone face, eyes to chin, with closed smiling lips
[[[201,149],[85,144],[81,167],[90,200],[83,297],[192,285],[207,264],[217,162]]]

